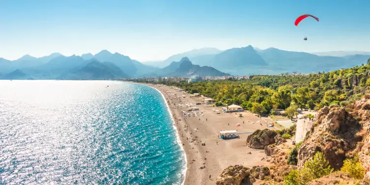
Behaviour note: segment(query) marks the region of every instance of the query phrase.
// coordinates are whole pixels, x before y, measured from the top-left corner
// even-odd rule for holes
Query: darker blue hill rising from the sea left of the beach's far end
[[[99,62],[92,59],[88,64],[74,72],[60,76],[58,79],[63,80],[100,80],[127,78],[120,67],[112,62]]]

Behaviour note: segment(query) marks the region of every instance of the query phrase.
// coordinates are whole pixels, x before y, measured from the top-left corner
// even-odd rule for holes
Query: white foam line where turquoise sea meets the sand
[[[139,83],[136,83],[136,84],[139,84]],[[141,85],[145,85],[145,84],[141,84]],[[157,88],[155,88],[155,87],[152,87],[152,86],[148,86],[148,87],[151,87],[151,88],[155,89],[157,92],[159,92],[162,95],[162,98],[164,100],[164,103],[166,104],[166,107],[167,107],[168,114],[170,114],[170,116],[171,116],[171,119],[172,119],[172,128],[175,130],[175,133],[176,133],[176,141],[177,141],[177,144],[180,146],[180,148],[181,148],[181,150],[182,150],[182,152],[184,154],[183,158],[184,158],[184,162],[185,162],[185,167],[183,167],[182,172],[181,172],[181,176],[182,176],[181,185],[184,185],[185,184],[185,179],[186,179],[186,172],[187,172],[186,152],[185,152],[185,149],[184,149],[183,145],[181,144],[180,133],[178,132],[177,127],[175,126],[175,118],[173,116],[173,112],[171,111],[170,106],[168,105],[167,99],[164,96],[164,94],[160,90],[158,90]]]

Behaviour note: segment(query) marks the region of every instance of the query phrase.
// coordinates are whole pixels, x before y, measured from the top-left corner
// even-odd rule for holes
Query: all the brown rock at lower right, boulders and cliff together
[[[253,149],[264,149],[267,155],[266,160],[273,165],[269,170],[270,182],[263,182],[281,184],[284,177],[292,170],[301,170],[308,159],[313,158],[317,152],[322,152],[335,170],[341,169],[343,160],[358,156],[360,165],[365,169],[364,178],[354,179],[345,171],[337,171],[328,176],[313,179],[308,185],[338,183],[370,185],[370,95],[345,107],[331,105],[319,110],[316,122],[308,131],[305,140],[296,147],[284,143],[285,141],[281,139],[280,135],[269,129],[256,130],[247,137],[247,146]],[[294,164],[297,165],[287,163],[287,159],[291,158],[293,148],[298,151],[298,154],[296,152],[293,157],[296,159]],[[227,170],[231,169],[225,170],[223,174],[227,174]],[[258,178],[253,179],[254,176],[250,174],[250,169],[247,168],[240,179],[234,181],[234,184],[222,184],[221,182],[225,182],[227,178],[220,176],[220,184],[217,185],[240,185],[246,182],[246,179],[248,183],[253,184]],[[235,179],[233,176],[230,178]]]

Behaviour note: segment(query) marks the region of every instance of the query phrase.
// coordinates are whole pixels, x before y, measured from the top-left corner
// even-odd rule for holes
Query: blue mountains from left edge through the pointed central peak
[[[2,74],[2,75],[1,75]],[[209,66],[192,64],[188,58],[172,62],[169,66],[158,68],[131,60],[119,53],[107,50],[92,55],[50,56],[35,58],[26,55],[16,61],[0,58],[0,79],[62,79],[99,80],[129,77],[157,76],[223,76],[229,75]]]

